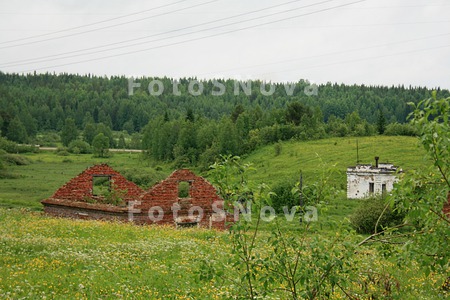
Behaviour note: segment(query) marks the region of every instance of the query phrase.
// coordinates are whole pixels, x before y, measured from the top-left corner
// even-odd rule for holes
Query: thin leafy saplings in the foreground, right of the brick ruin
[[[267,193],[264,185],[254,189],[247,180],[249,170],[250,165],[231,156],[223,157],[221,163],[212,166],[211,177],[219,186],[225,202],[235,207],[244,202],[245,213],[231,226],[232,255],[228,264],[217,266],[204,261],[202,273],[208,276],[203,276],[203,279],[221,278],[219,282],[222,284],[238,287],[238,299],[270,298],[274,295],[282,299],[359,299],[361,296],[391,299],[404,296],[407,289],[392,268],[395,257],[389,260],[378,244],[375,248],[373,245],[367,247],[379,234],[358,241],[342,220],[331,222],[331,232],[318,233],[317,228],[323,223],[314,214],[317,208],[329,205],[334,196],[332,188],[326,186],[326,172],[316,185],[320,193],[315,193],[315,201],[310,202],[315,206],[285,207],[286,220],[296,224],[295,232],[289,232],[282,228],[279,217],[270,214],[267,218],[267,211],[271,209],[265,205],[269,204],[271,193]],[[300,191],[303,190],[307,189]],[[294,193],[300,191],[293,190]],[[385,212],[382,208],[385,205],[381,205],[375,216],[375,232],[377,219],[381,219]],[[300,219],[295,218],[295,212],[300,214]],[[249,214],[256,214],[256,217],[252,219]],[[264,221],[270,223],[266,227],[268,234],[261,232]],[[386,222],[381,225],[384,224]],[[395,250],[401,251],[401,248]],[[376,255],[380,255],[377,260],[367,261]],[[382,269],[378,269],[378,264]],[[417,265],[414,259],[408,259],[402,264],[403,270],[407,264]],[[227,276],[227,270],[232,270],[234,276]],[[430,274],[427,269],[417,268],[417,271]],[[443,281],[445,277],[441,272],[438,274]],[[438,289],[435,296],[445,297],[445,293],[444,289]]]

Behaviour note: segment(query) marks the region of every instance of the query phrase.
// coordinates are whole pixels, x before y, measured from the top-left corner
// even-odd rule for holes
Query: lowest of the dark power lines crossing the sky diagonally
[[[145,52],[145,51],[154,50],[154,49],[166,48],[166,47],[170,47],[170,46],[174,46],[174,45],[180,45],[180,44],[185,44],[185,43],[189,43],[189,42],[193,42],[193,41],[204,40],[204,39],[208,39],[208,38],[211,38],[211,37],[221,36],[221,35],[225,35],[225,34],[229,34],[229,33],[244,31],[244,30],[252,29],[252,28],[255,28],[255,27],[259,27],[259,26],[280,23],[280,22],[284,22],[284,21],[287,21],[287,20],[292,20],[292,19],[296,19],[296,18],[300,18],[300,17],[304,17],[304,16],[318,14],[318,13],[321,13],[321,12],[330,11],[330,10],[333,10],[333,9],[342,8],[342,7],[346,7],[346,6],[350,6],[350,5],[354,5],[354,4],[362,3],[362,2],[366,2],[366,1],[368,1],[368,0],[353,1],[353,2],[349,2],[349,3],[345,3],[345,4],[336,5],[336,6],[333,6],[333,7],[328,7],[328,8],[316,10],[316,11],[309,12],[309,13],[304,13],[304,14],[300,14],[300,15],[286,17],[286,18],[280,19],[280,20],[269,21],[269,22],[266,22],[266,23],[261,23],[261,24],[251,25],[251,26],[247,26],[247,27],[243,27],[243,28],[233,29],[233,30],[220,32],[220,33],[215,33],[215,34],[211,34],[211,35],[207,35],[207,36],[203,36],[203,37],[188,39],[188,40],[184,40],[184,41],[180,41],[180,42],[174,42],[174,43],[171,43],[171,44],[155,46],[155,47],[145,48],[145,49],[140,49],[140,50],[134,50],[134,51],[124,52],[124,53],[119,53],[119,54],[114,54],[114,55],[108,55],[108,56],[103,56],[103,57],[99,57],[99,58],[80,60],[80,61],[71,62],[71,63],[64,63],[64,64],[59,64],[59,65],[54,65],[54,66],[42,67],[42,68],[37,68],[37,69],[29,69],[29,70],[21,71],[21,73],[30,72],[30,71],[37,71],[37,70],[42,70],[42,69],[46,69],[46,68],[57,68],[57,67],[74,65],[74,64],[79,64],[79,63],[104,60],[104,59],[108,59],[108,58],[114,58],[114,57],[129,55],[129,54],[135,54],[135,53]]]

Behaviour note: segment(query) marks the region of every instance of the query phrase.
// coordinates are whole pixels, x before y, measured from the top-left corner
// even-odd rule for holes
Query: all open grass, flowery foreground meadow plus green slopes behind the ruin
[[[371,163],[375,155],[405,170],[428,163],[415,138],[358,140],[363,163]],[[0,299],[236,299],[239,287],[223,279],[236,276],[229,263],[232,251],[227,232],[57,219],[39,212],[40,200],[95,163],[106,162],[120,172],[148,173],[150,182],[170,174],[170,164],[155,164],[136,153],[115,153],[107,159],[62,157],[53,152],[27,157],[31,164],[9,167],[16,179],[0,180]],[[344,188],[320,212],[319,222],[311,225],[306,239],[339,238],[353,244],[364,239],[346,219],[359,205],[359,201],[345,199],[345,169],[356,163],[355,138],[285,142],[278,156],[271,145],[245,161],[257,169],[250,175],[253,182],[270,185],[295,180],[300,170],[308,183],[320,175],[323,165],[334,169],[331,184]],[[277,219],[288,236],[300,234],[298,223]],[[273,226],[263,223],[258,235],[255,251],[262,257],[270,253],[267,242]],[[443,278],[427,276],[414,264],[398,267],[372,247],[360,249],[352,259],[363,275],[389,274],[385,278],[396,284],[392,299],[445,299],[439,290]],[[205,279],[201,276],[204,262],[223,273]],[[364,292],[367,278],[363,275],[357,276],[361,281],[348,286],[355,294]],[[361,299],[372,292],[382,296],[380,288],[369,282]],[[285,297],[282,290],[274,289],[265,299]],[[344,298],[339,291],[332,296]]]

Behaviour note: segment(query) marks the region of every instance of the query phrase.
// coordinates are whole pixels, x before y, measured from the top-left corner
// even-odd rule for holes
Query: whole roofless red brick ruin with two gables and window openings
[[[121,220],[224,229],[233,216],[206,179],[187,169],[144,191],[106,164],[95,165],[42,201],[44,212],[78,219]]]

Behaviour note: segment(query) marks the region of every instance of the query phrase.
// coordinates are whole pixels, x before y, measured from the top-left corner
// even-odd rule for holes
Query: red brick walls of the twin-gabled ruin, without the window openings
[[[133,205],[131,208],[133,213],[130,215],[128,207],[84,202],[86,197],[96,198],[92,194],[93,176],[110,176],[117,189],[127,190],[124,196],[125,201],[140,201],[141,203]],[[181,181],[190,183],[190,197],[188,198],[178,198],[178,185]],[[175,225],[177,222],[198,222],[201,227],[217,229],[225,229],[227,224],[233,221],[233,215],[221,216],[213,210],[213,203],[215,203],[216,211],[223,209],[223,201],[217,195],[216,189],[203,177],[186,169],[173,172],[166,180],[144,192],[109,166],[96,165],[70,180],[42,203],[44,211],[48,214],[77,219],[128,221],[132,217],[132,221],[137,224]],[[176,220],[174,219],[174,205],[179,205],[176,214],[178,219]],[[202,209],[202,218],[199,220],[188,217],[189,209],[195,206]],[[161,220],[157,219],[159,208],[155,209],[156,207],[160,207],[164,215]],[[152,210],[154,211],[153,220],[149,216],[149,212]]]

